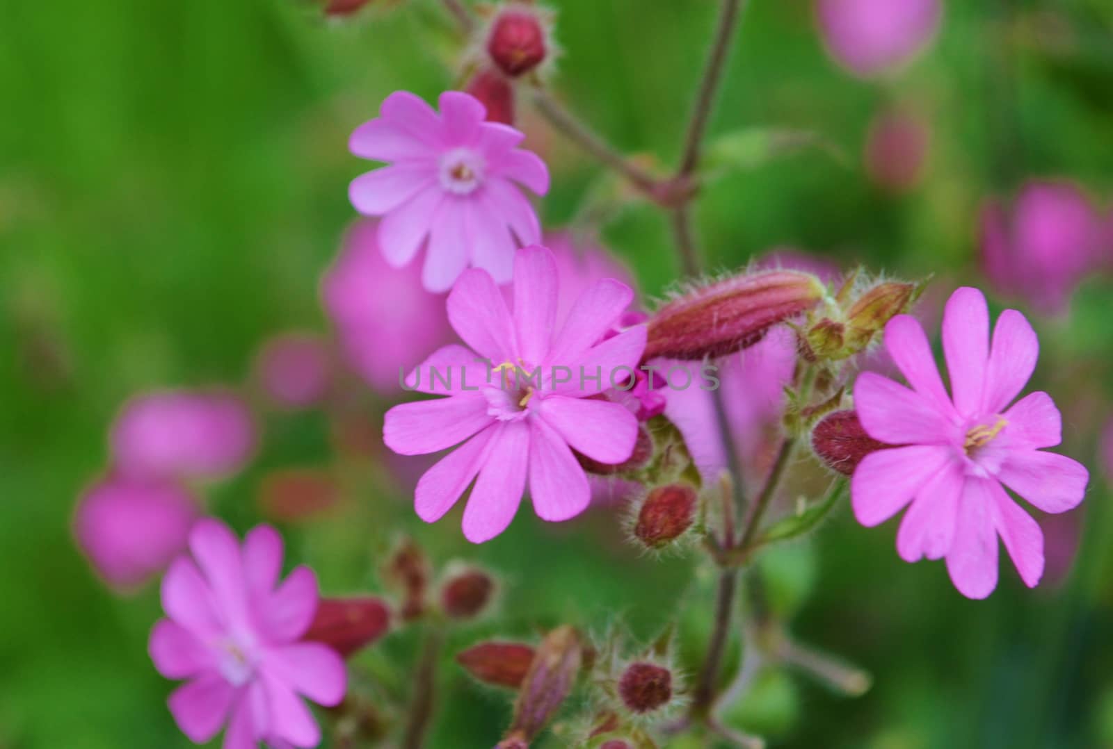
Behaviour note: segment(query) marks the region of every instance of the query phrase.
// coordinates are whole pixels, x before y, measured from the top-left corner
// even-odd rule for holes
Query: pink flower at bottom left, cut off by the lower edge
[[[210,740],[227,723],[225,749],[315,747],[321,729],[301,699],[344,698],[344,661],[328,646],[299,642],[317,610],[317,581],[297,567],[278,585],[282,538],[259,526],[240,548],[218,520],[197,522],[193,559],[162,579],[162,608],[150,657],[168,679],[186,679],[168,700],[190,740]],[[277,586],[277,587],[276,587]]]

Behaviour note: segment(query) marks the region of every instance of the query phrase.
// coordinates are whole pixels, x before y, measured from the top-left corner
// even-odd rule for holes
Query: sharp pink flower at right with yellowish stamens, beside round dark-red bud
[[[991,344],[985,297],[977,289],[955,291],[943,314],[949,396],[914,318],[893,318],[885,347],[912,389],[873,372],[855,385],[869,436],[902,446],[866,456],[855,471],[858,522],[876,526],[910,503],[897,533],[900,557],[945,557],[951,579],[968,598],[985,598],[996,587],[999,536],[1021,579],[1034,587],[1044,569],[1043,535],[1004,487],[1045,512],[1064,512],[1082,501],[1089,475],[1078,462],[1041,450],[1058,445],[1062,435],[1047,393],[1009,407],[1036,366],[1032,327],[1005,310]]]

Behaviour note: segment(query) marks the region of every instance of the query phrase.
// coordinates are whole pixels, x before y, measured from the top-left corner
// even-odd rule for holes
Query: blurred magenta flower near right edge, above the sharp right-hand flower
[[[982,210],[982,266],[994,287],[1044,314],[1065,311],[1087,271],[1102,262],[1102,221],[1070,182],[1028,182],[1012,208]]]

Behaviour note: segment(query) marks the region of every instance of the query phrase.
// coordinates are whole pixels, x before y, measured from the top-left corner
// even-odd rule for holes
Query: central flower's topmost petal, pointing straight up
[[[556,262],[553,253],[534,244],[514,259],[514,323],[518,352],[526,362],[540,362],[549,352],[556,319]]]

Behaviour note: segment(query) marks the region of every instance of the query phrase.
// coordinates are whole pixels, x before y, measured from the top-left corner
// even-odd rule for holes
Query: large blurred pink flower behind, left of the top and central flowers
[[[378,222],[361,219],[322,282],[345,360],[378,392],[401,390],[398,372],[450,339],[444,297],[421,287],[416,266],[395,269],[378,249]]]

